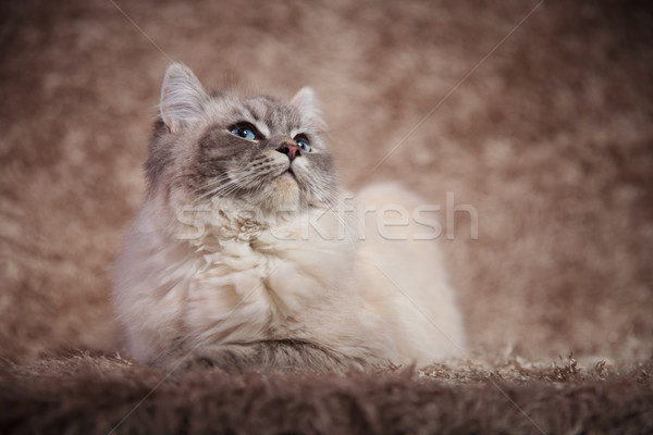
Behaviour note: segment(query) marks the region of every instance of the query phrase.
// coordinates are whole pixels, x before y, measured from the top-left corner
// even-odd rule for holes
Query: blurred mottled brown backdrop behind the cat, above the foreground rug
[[[167,55],[211,88],[312,86],[349,187],[473,206],[478,240],[460,213],[443,241],[473,352],[650,357],[653,13],[570,3],[515,29],[537,1],[2,2],[0,357],[118,345]]]

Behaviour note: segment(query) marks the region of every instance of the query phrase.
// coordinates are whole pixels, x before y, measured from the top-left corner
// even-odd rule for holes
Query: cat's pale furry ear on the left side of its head
[[[183,63],[171,63],[161,85],[159,112],[168,130],[178,133],[200,117],[209,96],[193,71]]]

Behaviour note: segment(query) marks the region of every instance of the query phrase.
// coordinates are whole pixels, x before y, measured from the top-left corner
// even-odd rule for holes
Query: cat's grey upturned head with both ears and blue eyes
[[[211,201],[263,214],[324,208],[338,188],[311,89],[289,102],[208,92],[171,64],[146,164],[149,195],[173,207]]]

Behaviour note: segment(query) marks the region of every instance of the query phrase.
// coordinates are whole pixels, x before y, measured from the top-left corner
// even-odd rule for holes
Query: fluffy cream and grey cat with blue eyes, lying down
[[[289,102],[209,92],[169,65],[147,191],[114,268],[135,359],[345,373],[460,355],[438,247],[415,240],[412,221],[381,236],[372,210],[423,201],[381,184],[347,204],[325,128],[310,88]]]

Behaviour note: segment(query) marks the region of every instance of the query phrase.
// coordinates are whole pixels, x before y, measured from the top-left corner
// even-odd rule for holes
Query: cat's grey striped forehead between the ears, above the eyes
[[[272,97],[218,96],[219,111],[229,123],[250,122],[271,134],[308,127],[299,110]]]

